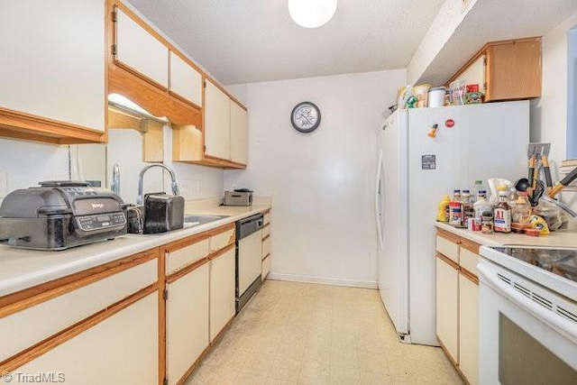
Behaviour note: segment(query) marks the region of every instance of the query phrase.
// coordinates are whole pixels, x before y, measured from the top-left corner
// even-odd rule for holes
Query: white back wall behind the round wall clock
[[[377,130],[406,81],[398,69],[228,87],[249,109],[249,164],[224,187],[273,197],[271,277],[376,288]],[[289,115],[306,100],[322,120],[303,134]]]

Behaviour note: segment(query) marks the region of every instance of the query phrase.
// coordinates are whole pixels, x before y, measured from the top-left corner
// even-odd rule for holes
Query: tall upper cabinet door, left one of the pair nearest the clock
[[[212,82],[205,88],[205,154],[230,160],[231,106],[230,98]]]

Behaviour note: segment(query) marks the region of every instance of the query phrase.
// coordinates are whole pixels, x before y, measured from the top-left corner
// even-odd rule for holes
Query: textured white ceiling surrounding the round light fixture
[[[224,85],[407,68],[444,0],[339,0],[316,29],[287,0],[129,0]]]

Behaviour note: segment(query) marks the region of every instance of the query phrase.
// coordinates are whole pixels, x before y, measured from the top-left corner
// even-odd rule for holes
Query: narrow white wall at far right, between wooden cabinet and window
[[[543,89],[541,97],[531,101],[531,141],[551,143],[552,166],[566,156],[567,31],[575,25],[577,14],[543,36]],[[552,167],[556,174],[555,169]],[[577,209],[577,194],[568,192],[562,198]]]

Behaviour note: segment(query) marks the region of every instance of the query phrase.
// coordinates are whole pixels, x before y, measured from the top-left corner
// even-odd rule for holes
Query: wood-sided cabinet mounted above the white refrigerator
[[[477,83],[485,102],[541,96],[541,38],[492,41],[446,82]]]

